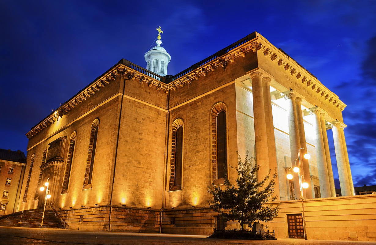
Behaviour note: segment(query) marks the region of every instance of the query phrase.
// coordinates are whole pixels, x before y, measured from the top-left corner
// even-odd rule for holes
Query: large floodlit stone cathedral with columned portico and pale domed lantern
[[[346,104],[314,75],[258,32],[167,75],[157,30],[146,68],[120,60],[26,134],[18,210],[42,207],[48,179],[47,205],[71,229],[210,234],[208,186],[237,178],[238,153],[259,178],[277,171],[275,194],[291,204],[299,181],[286,175],[304,148],[306,201],[334,198],[329,129],[342,195],[354,195]]]

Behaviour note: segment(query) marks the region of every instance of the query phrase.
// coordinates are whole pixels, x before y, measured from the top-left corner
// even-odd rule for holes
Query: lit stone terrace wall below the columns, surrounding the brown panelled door
[[[265,223],[277,238],[288,238],[287,214],[302,213],[302,202],[280,201],[278,216]],[[307,199],[304,201],[308,239],[376,240],[376,194]]]

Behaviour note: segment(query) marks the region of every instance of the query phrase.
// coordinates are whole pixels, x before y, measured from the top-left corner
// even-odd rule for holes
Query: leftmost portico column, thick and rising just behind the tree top
[[[268,141],[265,126],[264,93],[262,92],[262,73],[252,72],[253,121],[255,124],[256,163],[260,165],[257,173],[258,181],[268,175]]]

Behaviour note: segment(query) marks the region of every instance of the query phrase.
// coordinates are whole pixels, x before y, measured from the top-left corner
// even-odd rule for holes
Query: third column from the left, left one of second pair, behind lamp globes
[[[290,152],[291,152],[291,165],[296,166],[296,159],[298,158],[298,153],[300,149],[300,138],[299,138],[299,128],[298,119],[295,106],[296,94],[288,93],[285,95],[285,100],[287,101],[287,116],[288,116],[288,134],[290,138]],[[297,166],[299,167],[299,166]],[[299,177],[297,173],[292,173],[294,175],[294,192],[295,198],[300,198],[300,187],[299,187]]]

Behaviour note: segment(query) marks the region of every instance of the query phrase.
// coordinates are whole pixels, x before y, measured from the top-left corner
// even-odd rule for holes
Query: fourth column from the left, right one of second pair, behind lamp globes
[[[299,128],[299,140],[300,140],[300,147],[303,147],[307,150],[306,138],[305,138],[305,131],[304,131],[304,122],[303,122],[303,113],[302,113],[302,98],[296,97],[295,99],[295,106],[296,106],[296,115],[298,119],[298,128]],[[302,158],[303,162],[303,175],[305,181],[309,184],[310,188],[303,189],[303,195],[306,199],[311,199],[312,197],[312,182],[311,182],[311,173],[309,172],[309,162],[308,159]]]

